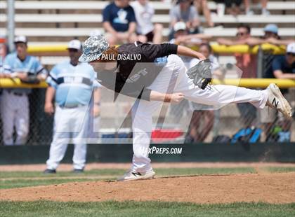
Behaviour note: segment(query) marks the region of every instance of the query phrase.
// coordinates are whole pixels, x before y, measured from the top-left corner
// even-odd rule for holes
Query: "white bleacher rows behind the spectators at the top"
[[[101,11],[108,1],[15,1],[15,34],[29,36],[30,41],[68,41],[69,38],[77,37],[84,40],[93,29],[102,28]],[[163,35],[169,33],[169,8],[171,4],[162,1],[151,1],[156,10],[153,22],[164,25]],[[0,11],[5,11],[6,1],[0,3]],[[255,6],[254,8],[256,8]],[[216,10],[216,3],[209,1],[209,8]],[[235,36],[237,23],[251,23],[254,27],[253,36],[263,34],[262,27],[268,23],[276,23],[280,27],[280,36],[294,37],[294,1],[269,1],[269,16],[262,15],[224,15],[218,17],[212,14],[212,20],[217,28],[204,28],[205,34],[212,36]],[[282,16],[284,14],[284,16]],[[6,34],[6,13],[0,14],[0,32]],[[204,18],[201,18],[204,22]],[[165,38],[166,39],[166,38]]]

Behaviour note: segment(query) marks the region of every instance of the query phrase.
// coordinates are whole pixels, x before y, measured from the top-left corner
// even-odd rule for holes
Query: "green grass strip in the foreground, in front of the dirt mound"
[[[0,202],[0,216],[295,216],[295,204],[181,202]]]

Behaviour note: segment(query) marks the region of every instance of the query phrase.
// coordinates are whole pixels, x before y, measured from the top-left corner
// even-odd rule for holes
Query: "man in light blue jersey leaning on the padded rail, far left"
[[[27,38],[17,36],[14,40],[16,52],[4,60],[4,72],[8,78],[28,80],[45,80],[46,70],[36,57],[27,55]],[[29,88],[6,88],[1,102],[4,145],[22,145],[27,141],[29,132]],[[15,127],[16,140],[13,141]]]

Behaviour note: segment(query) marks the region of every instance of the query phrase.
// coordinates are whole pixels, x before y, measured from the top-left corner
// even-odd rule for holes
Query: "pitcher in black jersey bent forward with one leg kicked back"
[[[199,64],[186,69],[178,55],[200,59]],[[126,43],[110,47],[103,36],[92,36],[84,43],[80,62],[90,62],[98,73],[101,85],[136,98],[132,109],[133,159],[129,172],[119,181],[152,179],[155,176],[148,153],[152,113],[163,102],[178,103],[188,99],[198,104],[218,106],[229,103],[249,102],[256,108],[270,106],[291,117],[291,107],[275,84],[265,90],[251,90],[230,85],[215,85],[211,81],[211,63],[199,52],[170,43]],[[138,63],[152,63],[140,68]],[[164,64],[158,64],[162,62]],[[143,66],[143,64],[140,64]],[[171,79],[177,77],[176,82]],[[113,85],[114,84],[114,85]],[[173,85],[173,92],[169,85]]]

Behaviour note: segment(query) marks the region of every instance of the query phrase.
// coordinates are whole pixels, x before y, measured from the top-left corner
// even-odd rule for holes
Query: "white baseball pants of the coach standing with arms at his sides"
[[[54,115],[54,135],[51,142],[47,169],[56,169],[65,156],[67,144],[74,144],[73,167],[84,169],[86,163],[86,139],[89,109],[81,106],[74,109],[56,106]]]

